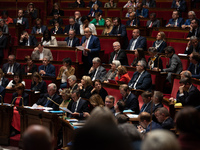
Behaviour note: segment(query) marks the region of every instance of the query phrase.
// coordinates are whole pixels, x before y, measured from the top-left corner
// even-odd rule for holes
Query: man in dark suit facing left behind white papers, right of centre
[[[125,109],[131,109],[134,113],[139,113],[139,102],[138,98],[131,93],[128,85],[122,84],[119,87],[120,93],[123,97],[123,101],[125,102]]]

